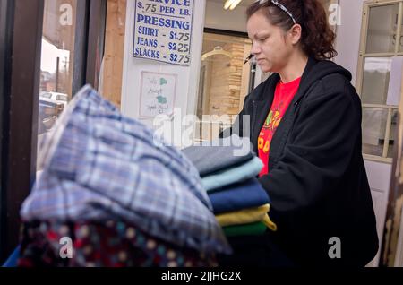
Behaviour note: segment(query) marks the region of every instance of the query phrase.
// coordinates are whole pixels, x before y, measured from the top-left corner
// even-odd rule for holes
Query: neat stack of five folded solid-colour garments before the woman
[[[201,185],[227,237],[277,230],[268,214],[270,197],[256,178],[262,160],[250,150],[250,142],[236,134],[183,150],[199,170]]]

